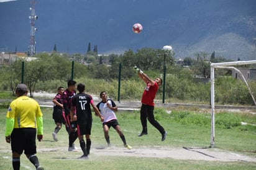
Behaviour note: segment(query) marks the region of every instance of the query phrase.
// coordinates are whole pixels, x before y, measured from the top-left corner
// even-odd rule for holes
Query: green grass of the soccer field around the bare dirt
[[[4,140],[5,116],[7,109],[0,109],[0,169],[12,169],[11,147]],[[42,109],[44,114],[44,136],[42,142],[37,142],[40,163],[45,169],[255,169],[256,163],[242,161],[195,161],[169,158],[144,158],[126,156],[98,156],[93,152],[89,160],[76,159],[81,156],[78,152],[68,152],[68,136],[65,128],[58,133],[58,142],[52,139],[55,124],[52,120],[52,109]],[[149,127],[149,135],[142,138],[139,134],[139,112],[117,114],[119,123],[126,136],[127,143],[133,148],[140,147],[208,147],[210,144],[210,115],[200,110],[172,110],[167,114],[163,109],[155,110],[155,118],[168,132],[167,140],[161,141],[160,133]],[[244,113],[221,112],[216,114],[216,147],[246,154],[256,158],[256,127],[240,125],[240,122],[256,124],[256,115]],[[112,145],[122,148],[122,141],[111,129]],[[91,135],[92,148],[106,146],[101,122],[94,117]],[[79,146],[78,140],[75,142]],[[34,169],[32,164],[21,157],[21,169]]]

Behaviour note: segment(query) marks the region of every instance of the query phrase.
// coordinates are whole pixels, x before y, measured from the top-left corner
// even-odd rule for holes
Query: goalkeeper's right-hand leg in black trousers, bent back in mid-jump
[[[162,134],[162,141],[165,140],[167,136],[167,132],[165,129],[160,125],[160,123],[155,120],[155,116],[153,115],[154,107],[147,105],[147,119],[153,125],[153,127],[157,128],[157,130]]]

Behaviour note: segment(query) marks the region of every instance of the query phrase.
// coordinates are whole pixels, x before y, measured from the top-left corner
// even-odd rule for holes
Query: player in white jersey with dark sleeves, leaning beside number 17
[[[107,92],[105,91],[101,92],[99,96],[101,97],[102,101],[97,104],[97,107],[101,112],[101,115],[104,117],[103,130],[107,141],[107,146],[111,146],[109,140],[109,128],[113,127],[124,142],[124,147],[128,148],[129,150],[132,149],[131,146],[127,145],[124,133],[122,133],[120,125],[117,121],[115,112],[117,112],[118,109],[116,104],[111,99],[107,99]]]

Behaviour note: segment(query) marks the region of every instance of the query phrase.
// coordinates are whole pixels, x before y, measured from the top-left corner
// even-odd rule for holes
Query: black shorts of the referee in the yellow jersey
[[[37,130],[35,128],[14,128],[11,134],[12,153],[22,154],[23,151],[29,155],[37,153],[36,135]]]

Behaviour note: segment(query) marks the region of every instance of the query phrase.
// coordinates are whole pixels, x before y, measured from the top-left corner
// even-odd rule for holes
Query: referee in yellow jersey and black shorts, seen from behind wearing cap
[[[20,168],[21,154],[25,153],[36,169],[43,169],[35,145],[35,136],[39,141],[43,138],[43,114],[39,104],[27,97],[27,86],[18,84],[16,87],[17,99],[12,101],[6,115],[6,142],[11,143],[12,168]]]

